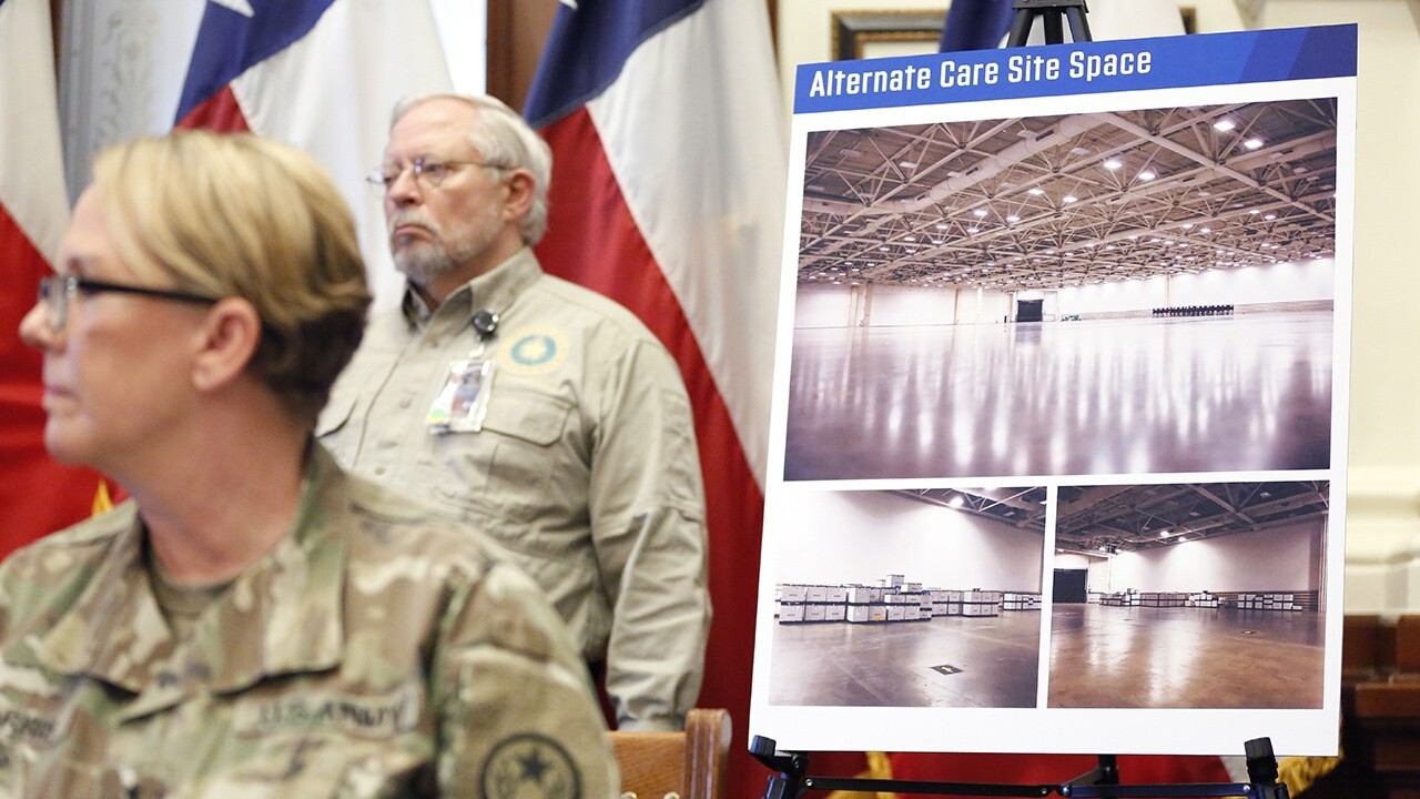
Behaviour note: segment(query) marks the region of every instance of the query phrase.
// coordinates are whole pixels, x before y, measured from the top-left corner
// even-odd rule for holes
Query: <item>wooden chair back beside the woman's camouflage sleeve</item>
[[[616,732],[622,799],[723,799],[730,711],[694,708],[684,732]]]

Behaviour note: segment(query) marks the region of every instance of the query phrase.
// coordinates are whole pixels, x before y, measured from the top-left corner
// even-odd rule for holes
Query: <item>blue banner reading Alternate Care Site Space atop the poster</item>
[[[802,64],[794,112],[1356,75],[1356,26]]]

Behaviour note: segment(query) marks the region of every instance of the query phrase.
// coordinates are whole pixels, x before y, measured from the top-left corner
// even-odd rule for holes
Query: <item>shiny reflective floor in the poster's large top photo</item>
[[[785,479],[1325,469],[1328,311],[799,330]]]

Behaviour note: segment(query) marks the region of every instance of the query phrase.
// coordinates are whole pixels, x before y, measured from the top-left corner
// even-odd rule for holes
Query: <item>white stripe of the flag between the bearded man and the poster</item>
[[[764,14],[758,0],[707,0],[588,104],[761,488],[787,173],[768,26],[743,24]]]

